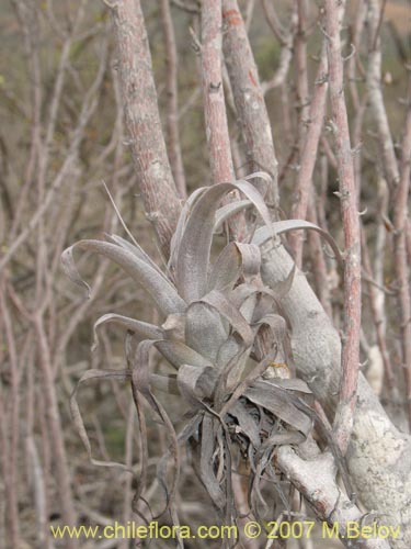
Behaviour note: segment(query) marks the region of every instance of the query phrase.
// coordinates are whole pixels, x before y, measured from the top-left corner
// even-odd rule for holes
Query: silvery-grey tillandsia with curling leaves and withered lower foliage
[[[311,223],[272,223],[262,194],[251,182],[256,176],[266,177],[256,173],[244,180],[204,187],[187,199],[172,238],[167,273],[133,237],[133,242],[115,235],[106,235],[106,242],[80,240],[67,248],[61,258],[68,277],[90,290],[76,268],[73,250],[107,257],[146,290],[163,315],[160,326],[114,313],[102,316],[94,325],[95,345],[100,326],[123,326],[127,334],[127,369],[89,370],[79,384],[107,377],[132,384],[144,453],[135,508],[147,481],[148,444],[141,399],[165,426],[169,451],[159,458],[157,474],[165,491],[164,511],[171,512],[174,522],[182,446],[190,450],[194,470],[221,520],[228,524],[237,518],[231,471],[239,461],[244,460],[249,471],[250,508],[261,517],[261,481],[277,480],[273,462],[277,446],[300,444],[312,427],[312,395],[302,380],[293,378],[288,325],[279,304],[296,268],[277,287],[265,287],[260,278],[261,246],[270,240],[277,245],[281,233],[311,228],[327,238],[336,256],[339,249],[327,233]],[[221,199],[232,190],[244,198],[219,208]],[[212,264],[214,234],[231,215],[250,206],[261,216],[262,226],[250,231],[248,243],[229,242]],[[176,373],[151,371],[151,347]],[[179,433],[161,402],[162,391],[180,397],[189,408]],[[71,399],[72,415],[92,459],[76,394],[77,389]]]

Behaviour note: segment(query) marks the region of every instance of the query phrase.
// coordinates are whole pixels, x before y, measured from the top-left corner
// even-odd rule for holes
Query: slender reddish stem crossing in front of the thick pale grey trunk
[[[339,0],[326,0],[330,99],[345,247],[342,379],[334,429],[340,448],[345,452],[353,427],[359,368],[361,240],[354,161],[343,89],[339,10]]]

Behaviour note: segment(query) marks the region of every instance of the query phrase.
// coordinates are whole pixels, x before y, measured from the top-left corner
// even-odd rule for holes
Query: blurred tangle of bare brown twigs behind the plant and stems
[[[161,2],[141,3],[165,128],[168,52]],[[296,201],[300,136],[308,103],[299,97],[298,70],[293,59],[284,77],[278,72],[284,67],[285,45],[273,33],[263,3],[242,1],[240,8],[265,90],[278,160],[282,215],[289,217]],[[367,250],[364,257],[368,256],[363,262],[361,357],[363,371],[391,419],[407,432],[409,388],[404,383],[399,321],[393,203],[380,127],[368,94],[370,23],[366,16],[358,23],[362,4],[367,2],[347,2],[343,26],[345,93],[358,158],[363,249]],[[275,7],[295,46],[294,2],[275,2]],[[380,86],[395,155],[400,161],[410,101],[410,5],[407,0],[391,0],[383,2],[381,8]],[[5,547],[59,547],[58,541],[50,540],[50,523],[62,524],[73,515],[79,524],[102,525],[114,519],[126,523],[133,517],[132,475],[89,463],[70,421],[69,396],[83,371],[124,367],[123,333],[115,326],[102,327],[102,345],[90,351],[93,323],[112,311],[156,324],[161,321],[140,288],[106,259],[91,259],[88,255],[79,261],[79,269],[92,287],[85,300],[61,272],[61,251],[80,238],[100,238],[105,232],[122,234],[102,184],[105,181],[141,246],[161,267],[164,258],[139,195],[105,4],[10,0],[2,2],[0,14],[0,529],[7,533]],[[190,193],[212,182],[201,55],[193,38],[199,33],[198,5],[194,1],[171,2],[171,14],[179,58],[178,123]],[[319,16],[317,2],[308,2],[304,46],[309,98],[321,54]],[[241,177],[248,173],[247,150],[227,81],[225,88],[236,172]],[[312,178],[315,215],[310,215],[342,248],[336,179],[327,107]],[[409,254],[410,238],[407,247]],[[342,328],[341,279],[326,259],[328,285],[319,287],[316,249],[308,242],[304,270],[334,325]],[[159,368],[164,368],[159,357],[156,360]],[[129,388],[112,381],[90,383],[81,389],[79,403],[94,457],[125,462],[138,475],[140,451]],[[175,419],[180,417],[182,411],[171,396],[165,405]],[[163,451],[165,441],[159,426],[152,421],[148,429],[153,452]],[[151,486],[146,497],[151,497],[156,506],[155,464],[149,463]],[[208,517],[214,524],[212,505],[189,463],[183,468],[181,495],[182,522],[203,524]],[[156,541],[156,547],[161,544]],[[76,542],[65,541],[61,547],[76,547]],[[84,541],[80,547],[124,549],[127,544]]]

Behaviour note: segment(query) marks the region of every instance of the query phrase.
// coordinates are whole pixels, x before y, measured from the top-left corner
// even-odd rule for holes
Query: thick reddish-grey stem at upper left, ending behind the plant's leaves
[[[180,212],[157,104],[151,54],[139,0],[111,7],[126,127],[147,217],[167,257]]]

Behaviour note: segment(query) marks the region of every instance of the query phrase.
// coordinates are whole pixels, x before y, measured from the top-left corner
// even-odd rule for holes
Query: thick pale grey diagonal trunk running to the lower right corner
[[[285,279],[293,260],[283,247],[272,245],[266,245],[262,256],[263,281],[274,287]],[[307,381],[332,419],[341,371],[339,334],[301,272],[296,274],[282,304],[293,328],[298,376]],[[401,526],[391,546],[411,547],[411,438],[392,425],[362,374],[346,459],[361,502],[381,515],[381,524]]]

